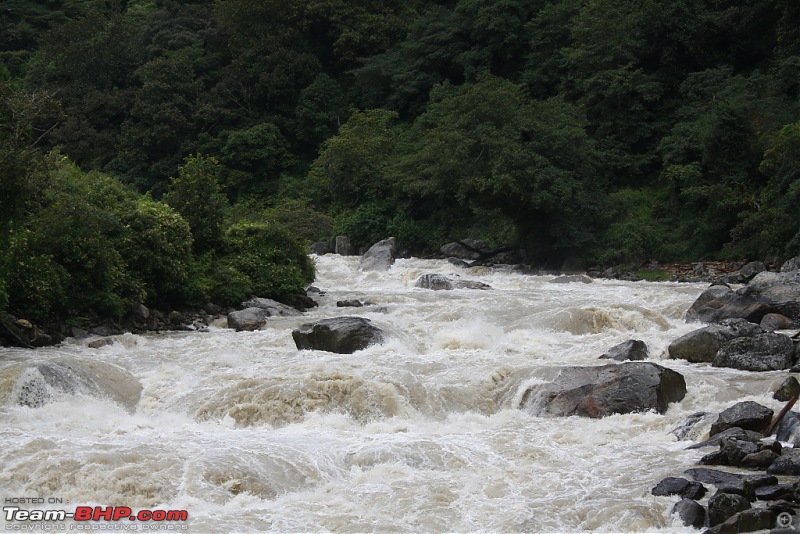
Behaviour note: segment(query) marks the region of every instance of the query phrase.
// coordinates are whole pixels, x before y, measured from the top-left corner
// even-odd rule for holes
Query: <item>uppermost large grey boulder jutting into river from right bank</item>
[[[753,296],[739,294],[727,286],[712,286],[697,297],[687,310],[686,321],[716,323],[723,319],[741,318],[758,323],[764,315],[773,311],[771,306]]]

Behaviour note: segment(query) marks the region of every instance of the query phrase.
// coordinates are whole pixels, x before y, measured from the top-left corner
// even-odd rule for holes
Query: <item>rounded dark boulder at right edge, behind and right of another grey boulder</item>
[[[711,364],[742,371],[789,369],[794,360],[794,344],[789,336],[767,332],[726,342]]]

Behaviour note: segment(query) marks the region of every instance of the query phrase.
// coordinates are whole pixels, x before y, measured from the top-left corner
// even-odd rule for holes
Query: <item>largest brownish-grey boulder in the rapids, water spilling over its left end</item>
[[[550,384],[524,393],[521,408],[535,415],[604,417],[656,410],[686,395],[680,373],[649,362],[565,367]]]

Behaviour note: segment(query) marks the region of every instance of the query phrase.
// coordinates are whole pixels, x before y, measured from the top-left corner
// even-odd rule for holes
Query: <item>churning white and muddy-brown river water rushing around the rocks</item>
[[[780,408],[771,391],[785,373],[666,359],[669,342],[697,328],[682,317],[701,284],[316,261],[320,306],[260,331],[220,324],[99,349],[0,349],[0,498],[185,509],[193,533],[692,532],[670,517],[676,498],[650,494],[707,452],[670,430],[739,400]],[[430,272],[493,289],[415,288]],[[374,305],[337,307],[344,299]],[[371,319],[387,342],[351,355],[295,348],[293,328],[341,315]],[[607,363],[598,356],[630,338],[686,378],[686,398],[666,414],[518,409],[548,369]],[[59,379],[68,391],[51,387]]]

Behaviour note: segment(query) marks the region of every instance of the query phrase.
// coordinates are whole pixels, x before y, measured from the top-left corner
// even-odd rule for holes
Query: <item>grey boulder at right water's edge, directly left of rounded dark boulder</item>
[[[757,324],[744,319],[727,319],[685,334],[670,343],[669,357],[692,363],[711,363],[719,349],[731,339],[764,333]]]

